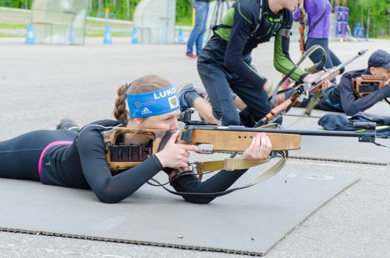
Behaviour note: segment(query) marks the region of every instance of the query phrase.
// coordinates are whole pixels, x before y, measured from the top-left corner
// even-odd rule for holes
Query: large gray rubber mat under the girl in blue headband
[[[252,168],[235,186],[261,172]],[[0,179],[0,230],[263,255],[358,180],[281,171],[210,204],[186,203],[147,184],[121,203],[104,204],[89,190]]]

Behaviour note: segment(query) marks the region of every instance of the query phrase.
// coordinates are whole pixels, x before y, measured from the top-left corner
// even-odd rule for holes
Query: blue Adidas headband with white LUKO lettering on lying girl
[[[154,92],[126,94],[130,115],[134,118],[165,114],[180,108],[173,85]]]

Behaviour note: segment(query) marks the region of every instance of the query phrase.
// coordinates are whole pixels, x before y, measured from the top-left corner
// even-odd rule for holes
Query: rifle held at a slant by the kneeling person
[[[366,53],[367,50],[368,50],[367,48],[360,50],[357,53],[357,55],[351,57],[346,62],[341,63],[338,66],[334,66],[333,68],[329,69],[325,74],[315,79],[313,82],[302,83],[297,85],[296,87],[297,90],[292,94],[292,96],[289,99],[285,100],[281,104],[274,107],[268,114],[265,115],[265,117],[263,117],[260,121],[258,121],[254,127],[256,128],[256,127],[273,123],[277,118],[287,113],[292,108],[292,106],[302,102],[304,99],[309,98],[310,93],[317,91],[326,80],[331,80],[334,77],[336,77],[340,73],[340,69],[345,67],[347,64],[351,63],[357,57]]]

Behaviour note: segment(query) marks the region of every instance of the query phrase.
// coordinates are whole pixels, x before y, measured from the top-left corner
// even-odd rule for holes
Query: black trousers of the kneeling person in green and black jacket
[[[198,73],[210,97],[213,115],[221,120],[222,126],[240,125],[240,116],[230,90],[232,89],[258,121],[271,111],[271,106],[267,104],[268,94],[263,90],[263,85],[254,87],[226,69],[225,45],[226,41],[217,35],[213,36],[197,60]],[[244,55],[243,61],[255,70],[251,65],[251,53]]]

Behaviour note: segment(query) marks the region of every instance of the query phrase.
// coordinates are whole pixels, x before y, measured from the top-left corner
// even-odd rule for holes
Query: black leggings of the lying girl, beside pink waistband
[[[70,130],[38,130],[0,142],[0,177],[40,181],[42,150],[52,142],[74,141],[76,135]]]

